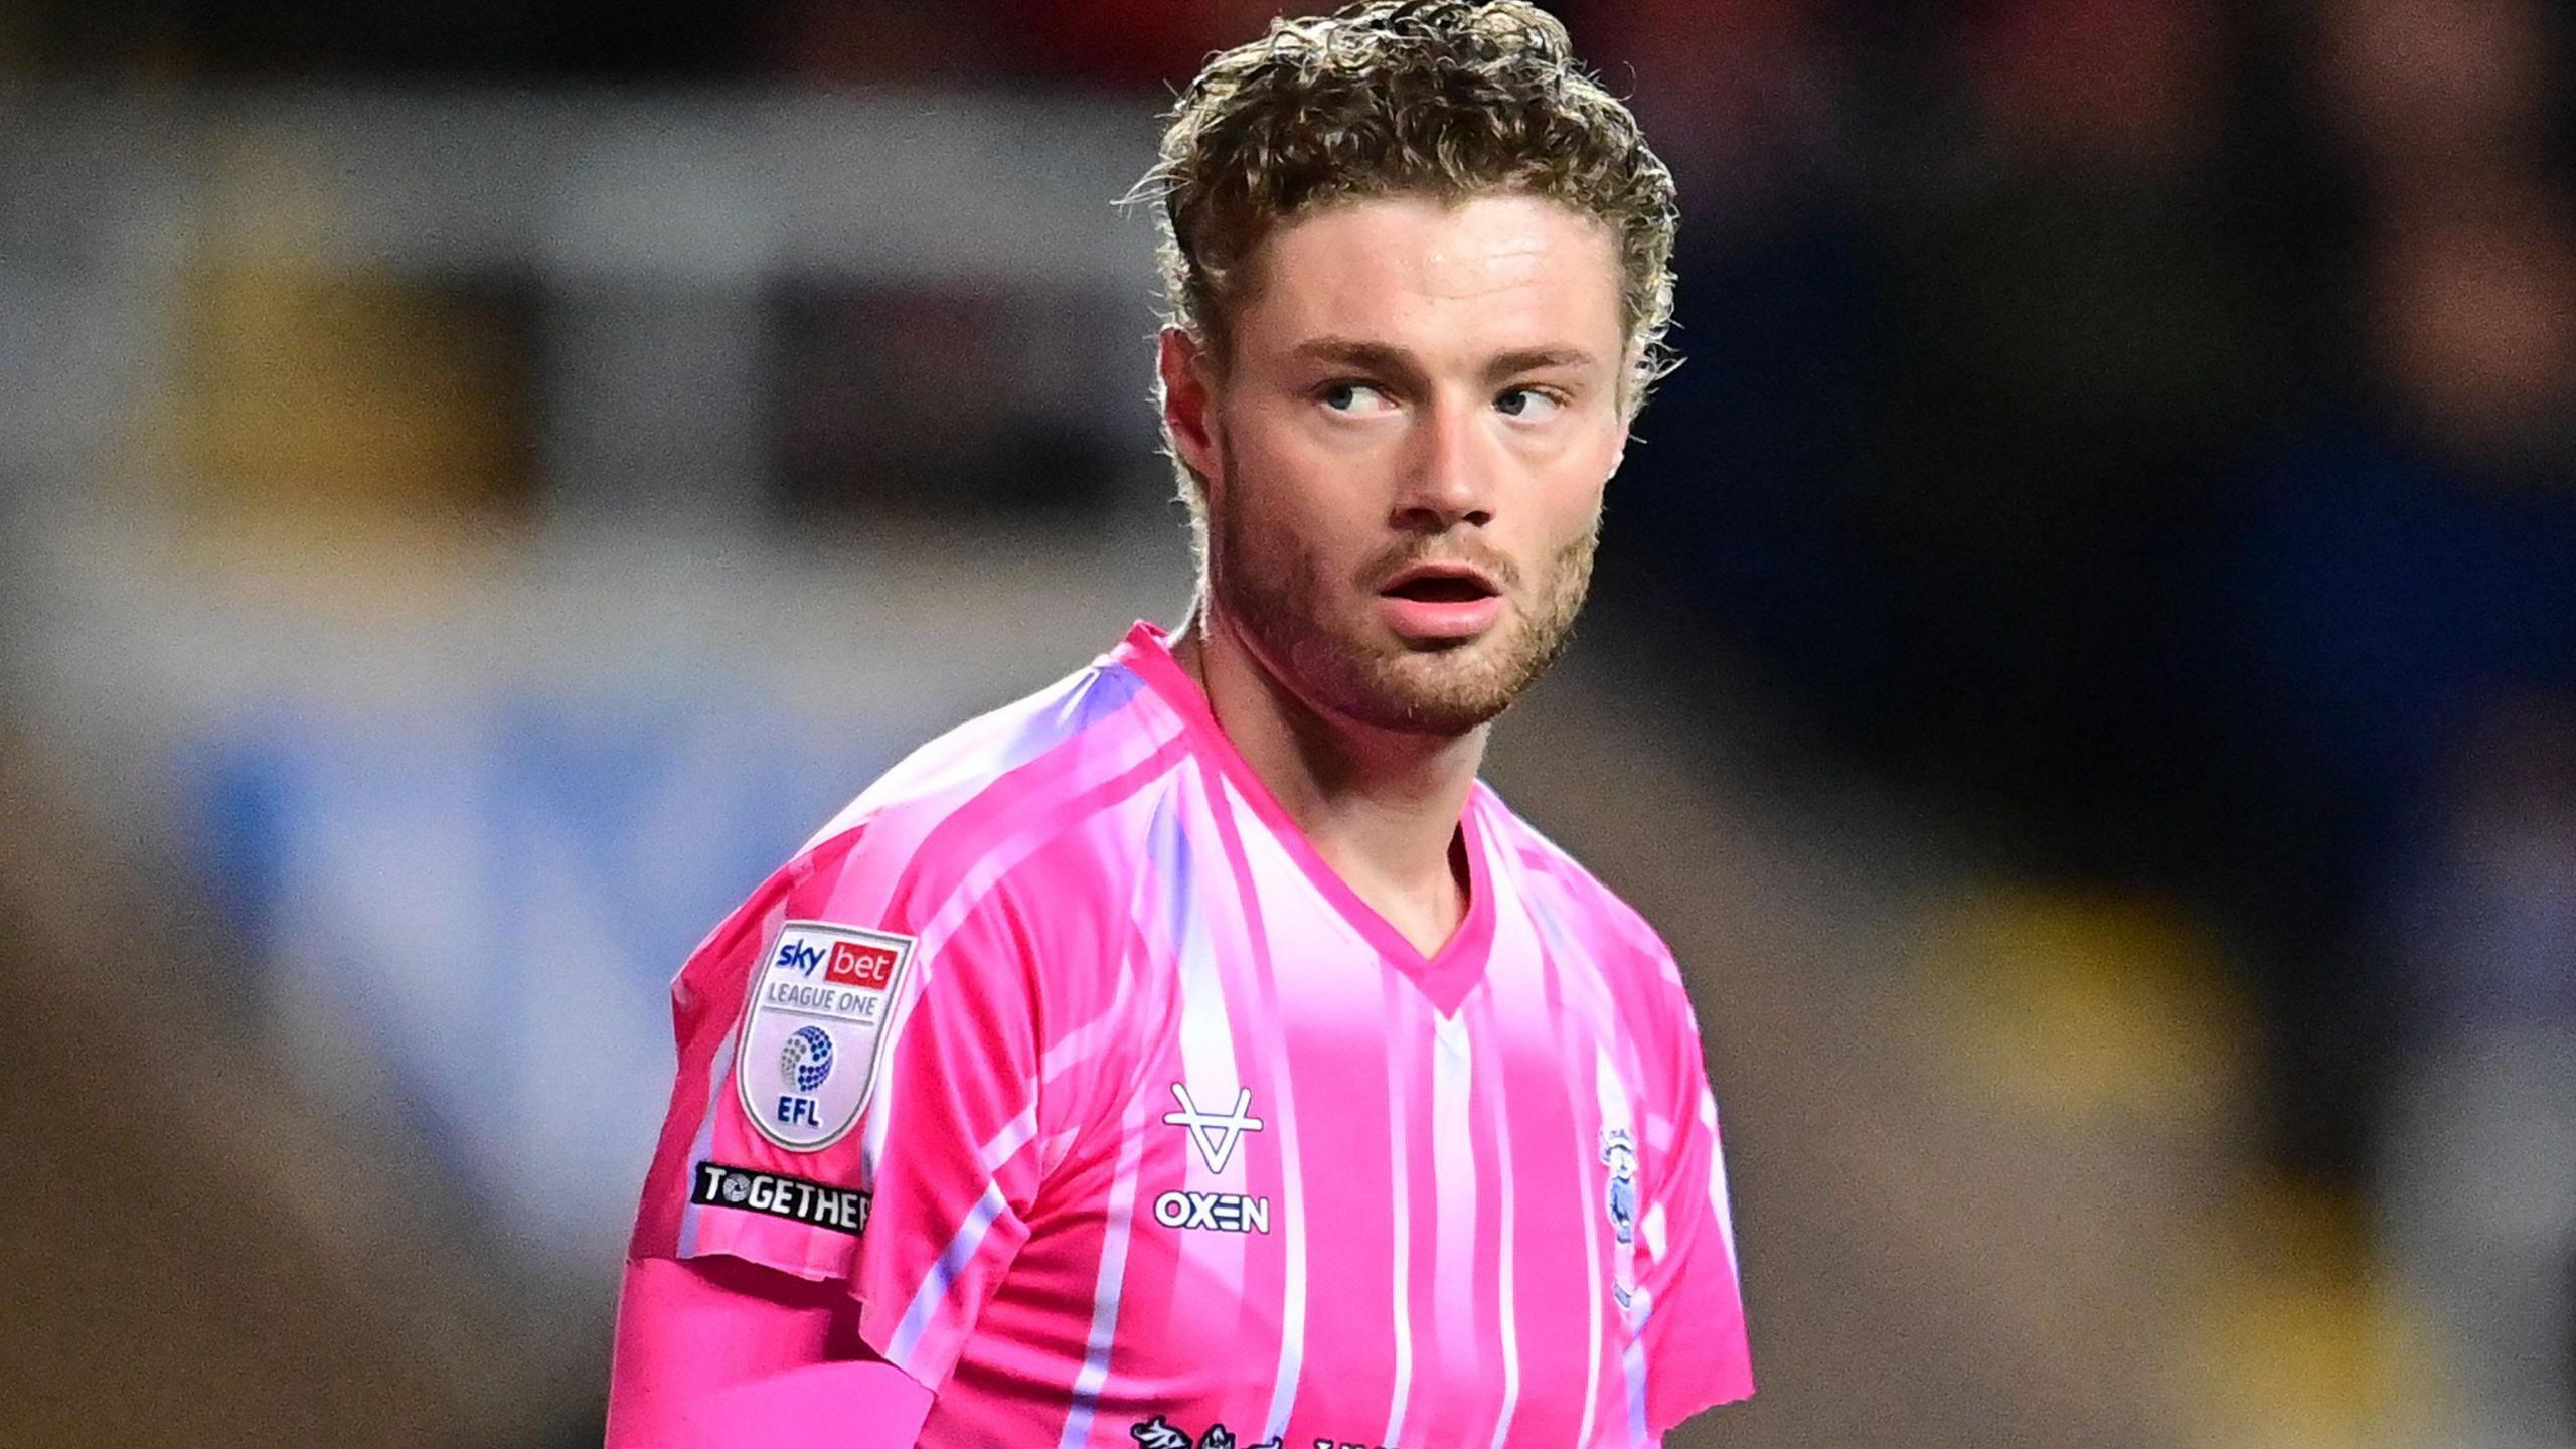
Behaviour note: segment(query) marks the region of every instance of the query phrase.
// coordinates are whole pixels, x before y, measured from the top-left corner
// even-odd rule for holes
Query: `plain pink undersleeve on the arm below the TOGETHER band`
[[[608,1449],[912,1449],[930,1390],[868,1356],[853,1307],[837,1284],[737,1258],[629,1261]]]

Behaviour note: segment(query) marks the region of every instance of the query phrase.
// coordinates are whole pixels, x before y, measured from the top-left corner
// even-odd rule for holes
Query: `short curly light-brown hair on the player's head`
[[[1522,0],[1370,0],[1270,23],[1182,90],[1131,199],[1157,201],[1167,320],[1226,358],[1244,260],[1334,201],[1510,191],[1597,217],[1620,253],[1625,407],[1672,369],[1672,173]]]

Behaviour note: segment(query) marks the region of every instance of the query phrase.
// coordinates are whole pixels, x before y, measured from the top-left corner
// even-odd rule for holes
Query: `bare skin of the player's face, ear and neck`
[[[1466,915],[1458,815],[1486,724],[1564,650],[1628,441],[1607,227],[1484,193],[1345,201],[1252,253],[1231,356],[1162,338],[1164,425],[1206,487],[1180,660],[1309,841],[1425,954]],[[1417,562],[1502,593],[1406,629]]]

